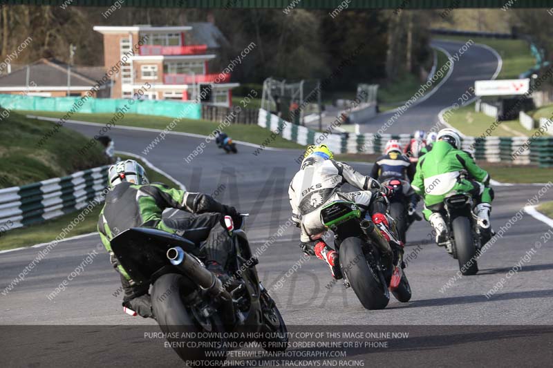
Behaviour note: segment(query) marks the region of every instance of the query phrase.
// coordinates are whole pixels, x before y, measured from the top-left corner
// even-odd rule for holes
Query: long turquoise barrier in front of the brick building
[[[77,101],[81,101],[80,103]],[[80,104],[80,106],[79,106]],[[202,106],[194,102],[153,99],[95,99],[87,97],[38,97],[0,94],[0,106],[8,110],[56,111],[59,113],[126,113],[201,119]],[[69,117],[71,119],[71,117]]]

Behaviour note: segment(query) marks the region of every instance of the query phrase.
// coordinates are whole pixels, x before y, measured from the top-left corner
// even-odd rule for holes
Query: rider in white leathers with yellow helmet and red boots
[[[360,191],[339,191],[340,186],[346,183]],[[317,240],[328,230],[321,223],[322,206],[334,200],[346,200],[355,202],[359,209],[371,215],[377,225],[375,229],[378,236],[386,240],[388,255],[391,256],[392,250],[400,246],[389,229],[385,215],[387,200],[384,196],[392,193],[393,188],[382,186],[377,180],[358,173],[348,164],[337,162],[326,145],[308,148],[301,169],[294,175],[288,189],[292,221],[301,229],[301,250],[309,255],[317,255],[317,258],[328,264],[334,278],[342,278],[338,253],[325,242]]]

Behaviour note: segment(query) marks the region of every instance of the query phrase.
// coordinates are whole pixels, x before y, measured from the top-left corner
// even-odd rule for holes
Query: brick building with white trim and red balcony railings
[[[200,32],[195,33],[193,28]],[[187,101],[204,95],[203,104],[232,105],[232,88],[239,84],[230,83],[228,73],[210,72],[208,68],[218,49],[214,35],[221,33],[211,23],[95,26],[94,30],[104,35],[106,70],[121,64],[122,59],[125,61],[111,77],[113,98],[130,98],[149,83],[151,88],[144,98]],[[196,39],[205,43],[195,43]]]

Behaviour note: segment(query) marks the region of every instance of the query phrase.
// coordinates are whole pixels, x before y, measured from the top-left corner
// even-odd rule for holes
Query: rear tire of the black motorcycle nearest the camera
[[[184,276],[177,273],[167,273],[158,278],[153,284],[151,292],[152,309],[161,331],[164,333],[178,333],[178,336],[182,336],[182,333],[223,332],[223,325],[217,315],[212,316],[207,324],[204,321],[202,326],[196,318],[191,316],[189,309],[185,307],[181,300],[183,281]],[[211,325],[211,328],[207,328],[209,325]],[[221,351],[221,353],[218,353],[221,355],[219,358],[207,356],[205,347],[196,349],[186,347],[186,342],[191,340],[189,336],[188,338],[168,338],[167,340],[176,345],[173,349],[183,361],[198,362],[199,365],[196,366],[205,365],[205,362],[209,361],[211,367],[217,367],[223,365],[226,359],[225,340],[223,338],[201,339],[205,342],[219,342],[219,349],[209,349],[209,351]],[[196,339],[196,341],[198,340],[200,339]]]

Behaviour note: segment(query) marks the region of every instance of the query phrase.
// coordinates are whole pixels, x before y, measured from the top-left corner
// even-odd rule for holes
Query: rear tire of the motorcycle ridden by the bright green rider
[[[478,263],[476,262],[476,249],[472,242],[471,222],[467,217],[460,216],[453,219],[453,238],[457,249],[457,260],[462,275],[476,275]],[[469,264],[469,265],[468,265]],[[465,269],[465,271],[462,271]]]

